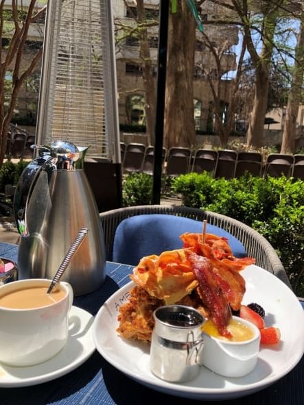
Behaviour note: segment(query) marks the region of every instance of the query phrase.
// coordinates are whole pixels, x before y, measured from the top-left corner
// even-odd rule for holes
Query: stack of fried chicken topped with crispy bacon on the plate
[[[181,304],[199,310],[213,320],[220,334],[231,308],[239,309],[246,291],[240,270],[253,258],[235,258],[225,238],[215,235],[183,234],[183,249],[164,251],[142,258],[130,279],[137,284],[130,299],[119,308],[117,332],[126,339],[150,342],[153,312],[163,305]]]

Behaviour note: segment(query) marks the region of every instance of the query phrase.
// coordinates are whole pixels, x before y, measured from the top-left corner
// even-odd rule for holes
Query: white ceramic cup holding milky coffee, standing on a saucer
[[[32,287],[48,287],[51,280],[27,279],[0,286],[4,295]],[[65,295],[47,306],[14,309],[0,306],[0,363],[32,366],[54,357],[68,339],[68,317],[73,303],[73,289],[67,282],[58,283]]]

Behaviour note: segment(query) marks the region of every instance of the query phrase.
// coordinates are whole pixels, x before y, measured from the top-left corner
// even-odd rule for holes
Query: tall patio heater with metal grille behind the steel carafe
[[[84,170],[101,211],[121,206],[110,0],[49,0],[36,143],[88,147]]]

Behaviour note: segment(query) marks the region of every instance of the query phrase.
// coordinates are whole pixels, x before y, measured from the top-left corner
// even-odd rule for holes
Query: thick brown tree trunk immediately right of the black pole
[[[176,13],[169,14],[164,125],[164,146],[167,149],[196,144],[193,92],[195,40],[194,16],[187,1],[178,0]]]

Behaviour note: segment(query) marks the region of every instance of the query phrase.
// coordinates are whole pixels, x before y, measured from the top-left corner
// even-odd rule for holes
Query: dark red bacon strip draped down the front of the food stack
[[[198,280],[200,296],[211,319],[222,336],[231,337],[231,333],[226,328],[231,319],[231,308],[217,282],[210,260],[195,253],[189,253],[189,260]]]

